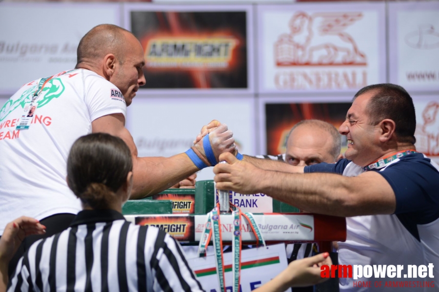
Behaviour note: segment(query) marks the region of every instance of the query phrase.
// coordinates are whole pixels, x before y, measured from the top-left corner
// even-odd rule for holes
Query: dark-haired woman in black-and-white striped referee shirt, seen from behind
[[[203,291],[174,238],[121,215],[132,167],[120,138],[79,138],[67,161],[67,182],[83,211],[67,230],[29,248],[8,291]]]

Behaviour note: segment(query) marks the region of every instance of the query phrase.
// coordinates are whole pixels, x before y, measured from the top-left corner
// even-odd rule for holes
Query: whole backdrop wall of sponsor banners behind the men
[[[405,87],[414,99],[417,146],[438,159],[438,15],[438,1],[277,5],[3,2],[0,106],[25,82],[73,68],[80,37],[99,23],[114,23],[136,30],[147,57],[152,29],[157,29],[152,35],[157,44],[172,42],[174,37],[183,42],[228,41],[234,46],[229,55],[222,56],[224,70],[148,72],[153,77],[161,74],[157,80],[164,86],[140,89],[128,110],[127,128],[140,155],[183,152],[201,126],[212,119],[228,124],[241,152],[265,154],[267,121],[281,118],[267,117],[277,114],[267,110],[271,104],[296,105],[302,110],[311,105],[314,111],[303,111],[303,117],[313,118],[312,112],[319,112],[319,107],[324,110],[334,103],[349,103],[365,85],[392,82]],[[214,22],[220,16],[226,20],[218,26]],[[233,19],[240,26],[234,26]],[[197,29],[188,33],[194,23]],[[160,36],[164,29],[167,38]],[[210,64],[205,58],[192,61]],[[203,86],[176,82],[174,71],[187,80],[207,78],[207,83],[200,88]],[[171,89],[166,84],[174,85]],[[291,115],[296,115],[292,120],[298,119],[294,111]],[[203,171],[200,178],[212,178],[211,171]]]

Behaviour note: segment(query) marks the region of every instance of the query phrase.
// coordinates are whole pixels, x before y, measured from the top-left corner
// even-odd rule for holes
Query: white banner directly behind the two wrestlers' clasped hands
[[[139,156],[169,157],[189,149],[201,127],[217,119],[233,130],[240,153],[255,155],[254,111],[250,96],[142,98],[140,95],[128,108],[126,127],[133,136]],[[213,177],[212,167],[208,167],[198,174],[197,180],[212,180]]]

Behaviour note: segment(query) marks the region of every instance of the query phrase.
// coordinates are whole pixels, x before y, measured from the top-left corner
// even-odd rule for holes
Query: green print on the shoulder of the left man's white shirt
[[[44,85],[43,90],[40,93],[40,97],[37,99],[37,109],[48,104],[52,99],[60,97],[64,92],[65,86],[62,84],[60,78],[53,78]],[[25,90],[21,94],[20,98],[13,101],[9,99],[0,110],[0,122],[4,120],[12,111],[21,106],[20,109],[24,109],[24,105],[32,101],[32,95],[37,90],[37,85]]]

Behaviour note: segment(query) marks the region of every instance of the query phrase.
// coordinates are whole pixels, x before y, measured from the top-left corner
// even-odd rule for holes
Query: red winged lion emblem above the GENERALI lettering
[[[314,13],[297,12],[290,19],[289,34],[275,43],[278,66],[365,66],[366,55],[344,32],[363,15],[360,12]]]

